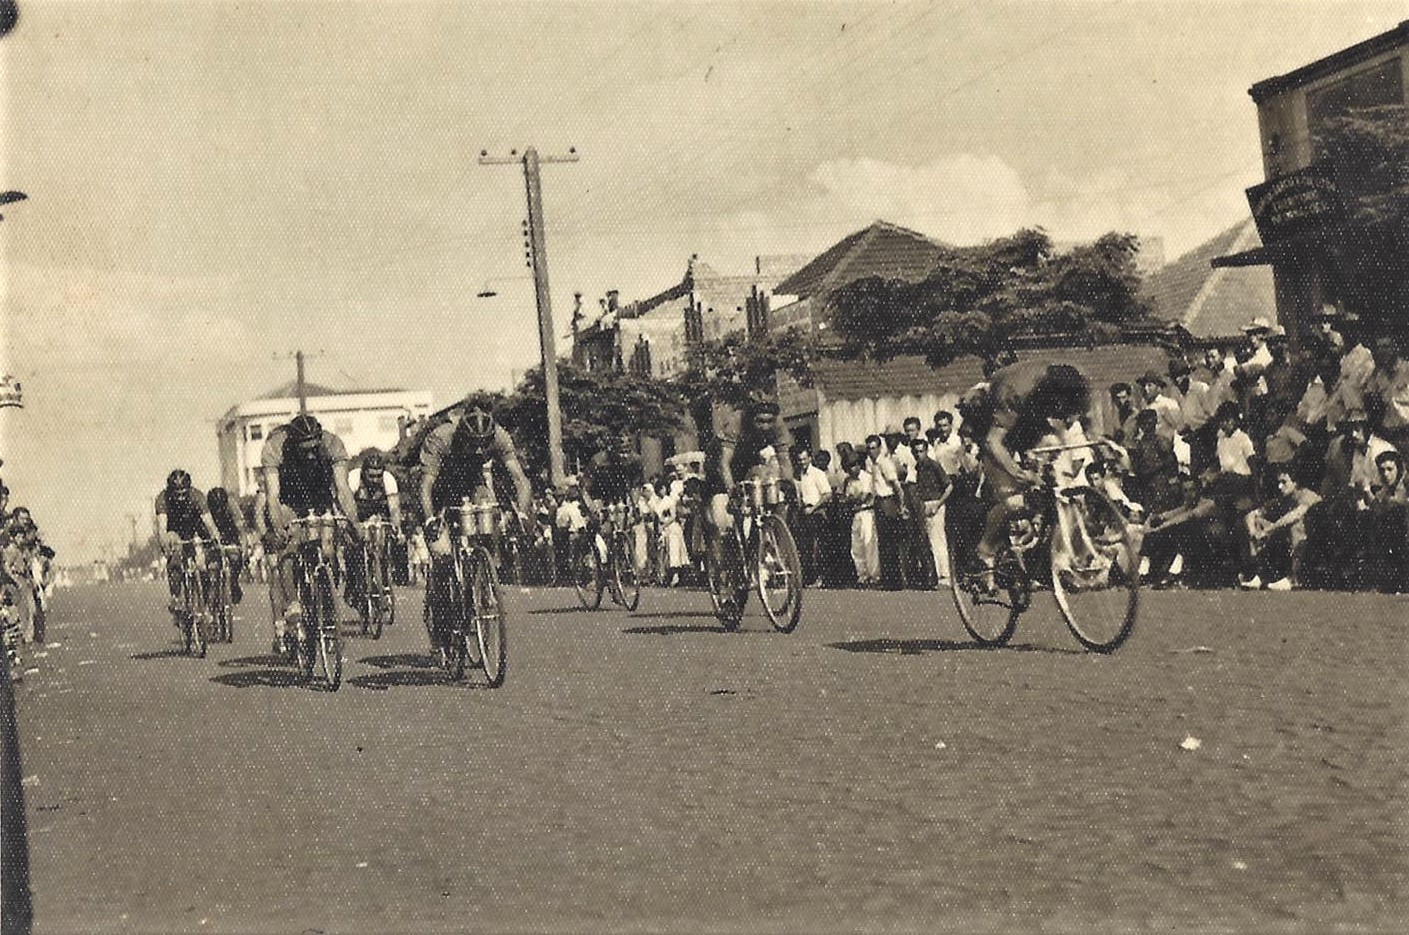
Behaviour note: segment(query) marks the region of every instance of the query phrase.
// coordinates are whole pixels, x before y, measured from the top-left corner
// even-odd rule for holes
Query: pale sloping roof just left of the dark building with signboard
[[[1155,317],[1184,325],[1196,338],[1239,335],[1257,317],[1275,321],[1277,291],[1270,266],[1209,265],[1216,256],[1253,249],[1260,242],[1248,218],[1151,273],[1143,291]]]

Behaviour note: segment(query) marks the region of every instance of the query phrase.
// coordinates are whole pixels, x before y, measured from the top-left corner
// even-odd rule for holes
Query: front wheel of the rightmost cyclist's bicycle
[[[1058,503],[1057,510],[1051,560],[1057,608],[1076,642],[1092,652],[1115,652],[1134,629],[1140,608],[1140,556],[1130,528],[1095,490]],[[1058,552],[1061,536],[1069,536],[1069,553]]]

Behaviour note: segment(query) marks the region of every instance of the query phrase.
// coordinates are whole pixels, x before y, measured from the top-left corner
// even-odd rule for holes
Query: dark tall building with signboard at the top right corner
[[[1265,182],[1247,194],[1262,245],[1213,263],[1271,265],[1278,320],[1293,337],[1324,303],[1339,300],[1322,238],[1339,215],[1339,190],[1363,182],[1337,177],[1327,165],[1324,130],[1355,110],[1403,106],[1406,87],[1409,21],[1248,89],[1257,104]]]

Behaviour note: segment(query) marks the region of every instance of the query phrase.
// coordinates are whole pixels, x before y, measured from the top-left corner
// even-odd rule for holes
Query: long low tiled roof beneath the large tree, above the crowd
[[[1129,383],[1146,370],[1165,373],[1169,355],[1154,345],[1113,344],[1096,348],[1034,348],[1017,352],[1019,360],[1071,363],[1100,397],[1112,383]],[[924,358],[905,356],[883,363],[869,360],[817,360],[813,383],[827,400],[879,400],[900,396],[964,393],[983,379],[983,362],[965,356],[931,368]]]

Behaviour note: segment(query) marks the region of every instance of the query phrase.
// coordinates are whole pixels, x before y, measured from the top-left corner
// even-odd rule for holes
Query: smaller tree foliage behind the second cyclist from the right
[[[738,404],[750,394],[772,394],[779,373],[812,386],[813,342],[802,328],[758,337],[733,334],[693,351],[689,372],[675,384],[689,400],[709,396]]]

